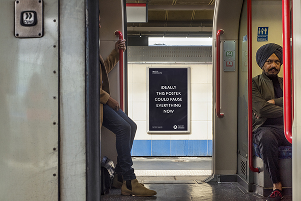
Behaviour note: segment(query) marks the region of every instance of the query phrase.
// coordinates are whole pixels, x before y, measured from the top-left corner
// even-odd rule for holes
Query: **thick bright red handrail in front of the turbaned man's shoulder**
[[[290,20],[289,0],[282,0],[282,33],[283,33],[283,117],[284,134],[291,143],[292,102],[291,102],[291,63],[290,63]]]

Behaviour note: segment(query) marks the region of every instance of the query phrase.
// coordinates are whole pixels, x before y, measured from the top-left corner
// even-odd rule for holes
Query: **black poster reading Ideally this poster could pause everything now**
[[[187,68],[149,68],[149,131],[188,131]]]

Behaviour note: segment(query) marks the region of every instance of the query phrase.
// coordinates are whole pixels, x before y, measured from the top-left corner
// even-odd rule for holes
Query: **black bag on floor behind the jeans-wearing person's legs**
[[[101,194],[107,194],[113,184],[115,166],[111,159],[104,156],[101,161]]]

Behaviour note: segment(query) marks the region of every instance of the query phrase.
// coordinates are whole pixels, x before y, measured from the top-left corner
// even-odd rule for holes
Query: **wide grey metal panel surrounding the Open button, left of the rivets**
[[[0,3],[0,200],[58,200],[58,4],[44,36],[14,36],[14,1]]]

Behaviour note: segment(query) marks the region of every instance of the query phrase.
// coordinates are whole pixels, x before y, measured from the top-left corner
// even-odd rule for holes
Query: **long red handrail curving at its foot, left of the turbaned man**
[[[253,167],[253,110],[252,110],[252,1],[248,0],[248,156],[249,168],[252,172],[260,172]]]

